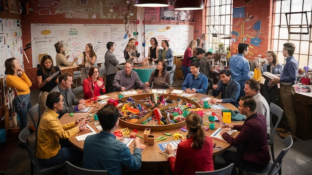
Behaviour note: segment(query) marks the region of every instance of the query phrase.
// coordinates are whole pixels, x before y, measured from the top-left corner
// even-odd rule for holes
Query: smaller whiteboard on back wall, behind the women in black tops
[[[193,25],[145,25],[145,39],[147,46],[151,46],[150,39],[155,37],[158,46],[162,40],[167,40],[169,48],[173,50],[173,55],[184,55],[189,42],[193,40]],[[145,47],[148,55],[149,47]]]

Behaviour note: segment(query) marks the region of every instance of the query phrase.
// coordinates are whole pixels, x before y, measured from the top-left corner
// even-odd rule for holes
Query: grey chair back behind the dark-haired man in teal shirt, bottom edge
[[[77,167],[68,161],[65,163],[68,175],[108,175],[106,170],[88,170]]]

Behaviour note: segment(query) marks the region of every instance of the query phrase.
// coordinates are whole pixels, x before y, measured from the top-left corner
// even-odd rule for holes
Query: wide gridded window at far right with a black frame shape
[[[296,45],[294,53],[299,68],[312,67],[312,0],[273,0],[273,24],[271,47],[284,64],[283,44]]]

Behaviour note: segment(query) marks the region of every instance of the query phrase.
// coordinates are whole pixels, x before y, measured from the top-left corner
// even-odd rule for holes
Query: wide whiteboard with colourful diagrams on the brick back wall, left
[[[125,24],[44,24],[31,23],[31,55],[32,67],[36,68],[38,56],[48,54],[53,58],[54,66],[56,51],[54,44],[65,41],[70,56],[68,61],[78,58],[77,64],[81,64],[83,51],[88,43],[91,43],[97,55],[96,63],[105,62],[106,44],[111,41],[116,44],[114,55],[119,63],[125,63],[124,50],[129,38],[125,36]]]

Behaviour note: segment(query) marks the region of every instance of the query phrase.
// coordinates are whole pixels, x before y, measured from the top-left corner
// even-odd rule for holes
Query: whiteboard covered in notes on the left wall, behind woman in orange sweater
[[[0,78],[4,76],[4,62],[8,58],[16,58],[24,68],[22,47],[20,20],[0,18]]]

